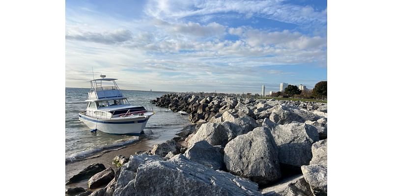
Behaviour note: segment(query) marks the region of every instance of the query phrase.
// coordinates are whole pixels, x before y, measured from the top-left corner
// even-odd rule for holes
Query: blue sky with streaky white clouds
[[[258,93],[327,80],[326,0],[66,0],[65,84]]]

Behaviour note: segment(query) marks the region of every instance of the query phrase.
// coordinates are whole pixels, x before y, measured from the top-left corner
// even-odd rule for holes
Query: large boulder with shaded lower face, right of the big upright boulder
[[[305,123],[281,125],[265,119],[262,127],[272,133],[279,149],[281,164],[296,167],[309,164],[312,158],[311,146],[319,140],[314,126]]]

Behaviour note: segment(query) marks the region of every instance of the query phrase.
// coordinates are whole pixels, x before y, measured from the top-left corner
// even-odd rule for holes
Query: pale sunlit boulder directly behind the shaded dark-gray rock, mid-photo
[[[233,133],[220,123],[204,123],[200,126],[195,135],[188,141],[188,146],[206,140],[212,146],[225,146],[232,138]]]

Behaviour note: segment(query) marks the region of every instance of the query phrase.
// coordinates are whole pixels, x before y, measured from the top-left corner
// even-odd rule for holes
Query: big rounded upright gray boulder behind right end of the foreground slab
[[[229,172],[260,185],[281,177],[274,139],[261,127],[231,140],[224,149],[224,163]]]

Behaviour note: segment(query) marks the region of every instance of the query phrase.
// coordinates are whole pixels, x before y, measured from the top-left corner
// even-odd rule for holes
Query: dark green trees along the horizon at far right
[[[318,98],[324,99],[328,97],[328,81],[320,81],[315,84],[314,89],[300,90],[295,85],[288,85],[284,92],[276,92],[272,97],[292,97],[292,98]]]

